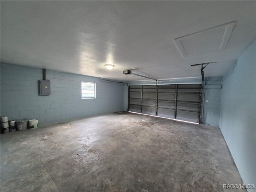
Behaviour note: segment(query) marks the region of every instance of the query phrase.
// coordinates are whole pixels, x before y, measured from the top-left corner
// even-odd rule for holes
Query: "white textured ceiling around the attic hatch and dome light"
[[[122,73],[133,68],[156,79],[200,77],[190,65],[216,61],[204,75],[222,76],[255,38],[255,9],[256,1],[1,1],[1,61],[126,81],[145,80]],[[194,43],[190,53],[203,53],[183,57],[175,44],[229,22],[225,49]]]

